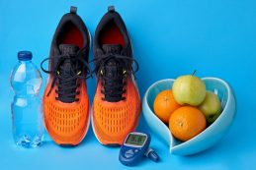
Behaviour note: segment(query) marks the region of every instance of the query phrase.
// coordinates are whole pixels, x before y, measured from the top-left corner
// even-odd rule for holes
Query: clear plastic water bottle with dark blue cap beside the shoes
[[[42,76],[30,51],[20,51],[18,59],[11,75],[13,137],[17,145],[35,147],[43,141]]]

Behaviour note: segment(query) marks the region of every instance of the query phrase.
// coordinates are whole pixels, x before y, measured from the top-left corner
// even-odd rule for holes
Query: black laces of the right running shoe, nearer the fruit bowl
[[[138,71],[138,63],[128,56],[119,54],[105,54],[91,62],[95,62],[96,65],[93,73],[97,73],[102,79],[104,89],[101,92],[105,95],[102,99],[111,102],[125,100],[123,94],[126,92],[126,78],[130,73],[134,76]],[[135,70],[132,68],[132,62],[136,65]],[[116,72],[111,72],[107,67],[114,67]]]

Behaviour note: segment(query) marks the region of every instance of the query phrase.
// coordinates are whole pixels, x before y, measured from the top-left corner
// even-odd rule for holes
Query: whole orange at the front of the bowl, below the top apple
[[[172,113],[169,121],[172,135],[182,142],[194,138],[206,127],[207,121],[204,113],[192,106],[180,107]]]

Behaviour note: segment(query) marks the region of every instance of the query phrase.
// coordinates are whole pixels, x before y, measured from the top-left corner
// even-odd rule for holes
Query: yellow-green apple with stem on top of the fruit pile
[[[181,76],[172,86],[175,100],[181,104],[200,105],[206,97],[206,85],[194,75]]]

